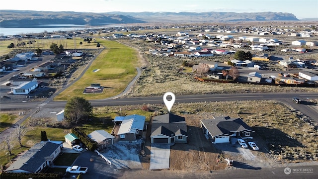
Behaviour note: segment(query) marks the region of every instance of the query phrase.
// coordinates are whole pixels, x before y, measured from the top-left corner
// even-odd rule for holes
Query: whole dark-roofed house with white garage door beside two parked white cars
[[[213,117],[213,119],[201,120],[201,127],[207,139],[213,144],[229,143],[231,139],[253,139],[255,131],[251,129],[241,118],[229,116]]]

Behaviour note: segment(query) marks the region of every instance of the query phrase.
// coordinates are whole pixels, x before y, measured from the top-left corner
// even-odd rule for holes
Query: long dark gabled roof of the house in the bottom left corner
[[[61,144],[62,141],[60,143],[46,141],[35,144],[5,171],[23,170],[35,173],[47,160],[46,157],[50,157]]]

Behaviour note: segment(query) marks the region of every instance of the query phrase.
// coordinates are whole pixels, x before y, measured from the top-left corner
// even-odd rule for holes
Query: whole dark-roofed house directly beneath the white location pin
[[[155,116],[150,137],[151,143],[187,143],[185,118],[172,113]]]

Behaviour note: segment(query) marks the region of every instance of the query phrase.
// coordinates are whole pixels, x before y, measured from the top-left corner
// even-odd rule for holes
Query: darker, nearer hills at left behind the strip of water
[[[43,27],[41,25],[50,24],[60,26],[69,25],[90,25],[97,26],[103,24],[122,24],[122,23],[144,23],[129,15],[92,13],[92,12],[72,12],[72,11],[33,11],[33,10],[0,10],[0,27],[4,28],[27,28]]]

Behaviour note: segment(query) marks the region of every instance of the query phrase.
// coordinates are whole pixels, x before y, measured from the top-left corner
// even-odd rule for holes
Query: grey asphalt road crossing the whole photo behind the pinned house
[[[305,115],[318,122],[318,111],[310,107],[311,103],[303,102],[296,104],[292,101],[293,97],[299,97],[306,100],[307,98],[318,98],[318,93],[239,93],[239,94],[204,94],[204,95],[177,95],[175,103],[186,102],[215,102],[215,101],[234,101],[234,100],[278,100],[287,103],[295,109],[301,111]],[[3,109],[21,109],[21,108],[36,108],[43,102],[19,102],[6,103],[0,105],[0,110]],[[116,99],[98,99],[90,100],[92,106],[114,106],[114,105],[136,105],[136,104],[163,104],[162,96],[154,97],[134,97],[134,98],[116,98]],[[66,101],[48,100],[42,107],[64,107]],[[173,107],[171,109],[173,111]]]

